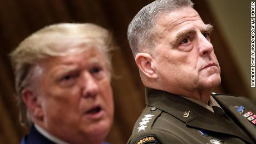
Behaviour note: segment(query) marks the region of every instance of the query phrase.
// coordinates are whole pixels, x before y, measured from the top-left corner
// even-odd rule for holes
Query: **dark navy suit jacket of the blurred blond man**
[[[35,126],[32,126],[28,135],[22,138],[20,144],[55,144],[55,142],[48,140],[48,138],[46,138],[36,130]],[[110,143],[104,142],[102,144],[110,144]]]

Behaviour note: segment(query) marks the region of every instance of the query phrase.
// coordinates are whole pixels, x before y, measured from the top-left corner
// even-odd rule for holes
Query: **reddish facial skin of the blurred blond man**
[[[28,107],[33,121],[66,142],[102,143],[112,125],[114,103],[101,53],[91,48],[39,66],[42,72],[31,94],[37,106]]]

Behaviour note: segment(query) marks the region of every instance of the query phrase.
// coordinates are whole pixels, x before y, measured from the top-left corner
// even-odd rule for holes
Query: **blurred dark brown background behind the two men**
[[[13,98],[14,77],[8,53],[29,34],[53,23],[90,22],[113,33],[119,48],[113,52],[116,77],[115,122],[107,137],[113,144],[126,143],[145,107],[144,86],[126,39],[127,26],[152,0],[0,0],[0,144],[19,143],[28,129],[18,123]],[[194,0],[205,23],[214,25],[211,42],[221,66],[216,92],[256,100],[250,87],[250,1]],[[65,118],[65,117],[63,117]]]

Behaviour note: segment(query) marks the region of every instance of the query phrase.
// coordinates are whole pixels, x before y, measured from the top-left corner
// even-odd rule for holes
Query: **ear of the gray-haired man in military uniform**
[[[149,53],[138,53],[135,62],[140,71],[149,78],[157,78],[154,66],[152,66],[152,57]]]

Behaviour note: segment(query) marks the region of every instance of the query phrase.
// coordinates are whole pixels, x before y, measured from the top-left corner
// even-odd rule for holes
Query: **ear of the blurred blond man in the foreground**
[[[35,92],[25,88],[22,90],[22,100],[33,117],[43,118],[42,106]]]

